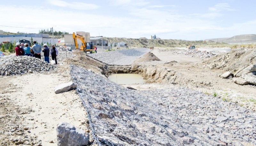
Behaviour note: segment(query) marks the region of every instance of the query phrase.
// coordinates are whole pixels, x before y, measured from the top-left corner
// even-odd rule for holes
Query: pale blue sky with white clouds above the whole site
[[[256,34],[255,0],[8,0],[0,30],[204,40]],[[22,27],[22,28],[21,28]]]

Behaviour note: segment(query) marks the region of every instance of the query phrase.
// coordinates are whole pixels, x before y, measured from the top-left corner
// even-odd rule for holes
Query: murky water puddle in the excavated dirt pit
[[[108,80],[120,85],[144,84],[145,80],[140,74],[136,73],[113,73],[108,76]]]

